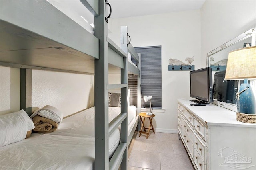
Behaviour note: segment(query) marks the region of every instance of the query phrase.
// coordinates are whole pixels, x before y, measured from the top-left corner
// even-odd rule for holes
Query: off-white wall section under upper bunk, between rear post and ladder
[[[90,75],[32,70],[32,107],[48,104],[67,116],[94,106],[93,88]]]

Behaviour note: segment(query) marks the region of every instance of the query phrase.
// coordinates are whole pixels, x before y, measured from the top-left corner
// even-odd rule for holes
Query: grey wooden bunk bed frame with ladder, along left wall
[[[72,138],[80,141],[79,146],[88,146],[83,152],[69,150],[70,155],[80,162],[72,162],[87,169],[86,162],[92,160],[94,169],[126,169],[127,147],[138,123],[138,116],[128,132],[128,72],[139,74],[139,67],[128,62],[128,53],[139,63],[140,57],[132,45],[127,45],[128,29],[121,28],[121,48],[108,38],[107,0],[80,0],[94,15],[94,35],[68,18],[48,1],[3,0],[0,6],[0,66],[20,68],[20,109],[31,115],[31,73],[32,69],[72,72],[94,75],[94,137],[86,136],[81,140],[79,134],[61,139],[65,133],[56,131],[52,135],[66,140],[62,147],[70,147]],[[110,5],[109,5],[110,6]],[[54,28],[54,29],[53,29]],[[118,68],[118,69],[116,69]],[[108,84],[108,70],[119,70],[120,84]],[[120,114],[109,120],[108,90],[121,89]],[[140,90],[138,90],[138,93]],[[139,94],[140,95],[140,94]],[[138,100],[139,101],[139,100]],[[140,112],[138,102],[137,112]],[[72,119],[64,119],[64,122]],[[120,143],[114,153],[109,155],[109,137],[120,128]],[[51,136],[51,134],[47,134]],[[31,139],[18,143],[33,143],[46,135],[34,135]],[[52,138],[51,138],[52,139]],[[14,146],[18,145],[15,143]],[[67,144],[65,146],[65,144]],[[94,147],[92,147],[94,145]],[[22,146],[22,145],[19,145]],[[12,144],[10,146],[12,147]],[[95,148],[95,150],[92,150]],[[19,149],[18,147],[16,149]],[[63,149],[63,148],[62,148]],[[39,154],[40,155],[40,154]],[[41,155],[42,156],[42,155]],[[73,164],[73,165],[74,165]],[[58,167],[58,161],[56,162]],[[62,165],[65,167],[65,165]],[[28,166],[29,167],[29,166]],[[73,167],[76,167],[74,165]],[[44,167],[46,168],[46,167]]]

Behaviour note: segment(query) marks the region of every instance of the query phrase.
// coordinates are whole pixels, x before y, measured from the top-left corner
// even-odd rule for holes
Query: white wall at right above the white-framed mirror
[[[202,63],[208,52],[255,26],[255,0],[206,0],[201,8]]]

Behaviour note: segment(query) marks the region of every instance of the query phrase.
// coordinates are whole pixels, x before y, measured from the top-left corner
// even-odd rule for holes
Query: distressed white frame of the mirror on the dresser
[[[243,41],[244,39],[247,39],[249,37],[252,37],[251,39],[251,46],[256,46],[256,26],[249,29],[248,31],[242,33],[241,35],[238,35],[237,37],[235,37],[234,39],[231,39],[230,41],[220,45],[220,47],[217,47],[215,49],[213,49],[212,51],[210,51],[209,53],[207,53],[207,60],[206,60],[206,66],[210,66],[210,56],[218,53],[219,51],[222,51],[223,49],[226,49],[227,47],[230,47],[231,45],[234,45],[240,41]],[[256,80],[251,80],[250,84],[252,85],[252,87],[254,87],[254,96],[256,98]],[[238,83],[238,90],[240,87],[240,81]],[[230,104],[230,103],[225,103],[225,102],[220,102],[217,100],[214,100],[214,102],[212,102],[215,105],[224,107],[226,109],[230,109],[232,111],[237,111],[237,106],[235,104]]]

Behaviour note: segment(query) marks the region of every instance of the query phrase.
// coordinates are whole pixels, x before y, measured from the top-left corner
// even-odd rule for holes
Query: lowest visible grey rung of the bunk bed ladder
[[[113,154],[110,162],[109,162],[109,169],[110,170],[117,170],[120,166],[122,159],[124,157],[124,151],[126,149],[127,143],[120,143],[118,148],[116,149],[115,153]]]

